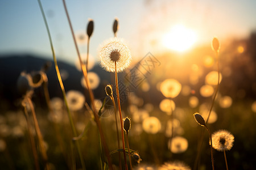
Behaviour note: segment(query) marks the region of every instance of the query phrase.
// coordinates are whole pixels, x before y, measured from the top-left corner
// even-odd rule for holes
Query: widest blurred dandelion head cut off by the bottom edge
[[[191,170],[191,168],[183,162],[175,161],[175,162],[166,162],[159,170]]]

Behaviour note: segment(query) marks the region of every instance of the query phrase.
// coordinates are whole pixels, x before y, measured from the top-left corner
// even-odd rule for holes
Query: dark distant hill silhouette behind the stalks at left
[[[53,59],[44,59],[40,56],[34,56],[31,54],[23,55],[5,55],[0,56],[0,106],[2,107],[14,107],[14,101],[20,98],[16,90],[16,81],[22,71],[31,73],[32,71],[39,71],[46,62],[51,62],[52,66],[47,71],[48,76],[48,88],[50,97],[62,97],[59,81],[57,80],[56,70],[54,67]],[[84,88],[81,86],[81,71],[77,70],[75,66],[69,65],[68,63],[57,61],[60,71],[68,73],[67,79],[63,80],[66,91],[78,90],[83,92]],[[95,97],[104,96],[104,87],[109,83],[110,74],[104,71],[100,66],[96,65],[90,71],[97,73],[101,78],[100,86],[94,90]],[[42,89],[35,90],[36,96],[43,96]],[[89,99],[89,96],[86,96]],[[35,97],[43,100],[43,97]],[[40,101],[42,102],[42,101]],[[0,111],[1,112],[1,111]]]

